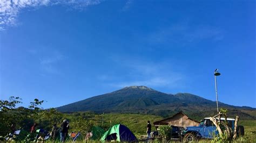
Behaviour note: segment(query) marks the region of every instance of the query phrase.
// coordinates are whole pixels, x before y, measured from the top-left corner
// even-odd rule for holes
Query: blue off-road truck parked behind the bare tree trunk
[[[220,120],[225,120],[220,118]],[[228,126],[234,130],[235,119],[227,118]],[[189,126],[183,131],[183,141],[190,142],[198,139],[213,139],[215,135],[218,135],[217,128],[212,123],[210,118],[204,118],[199,126]],[[244,135],[244,127],[238,126],[238,135]]]

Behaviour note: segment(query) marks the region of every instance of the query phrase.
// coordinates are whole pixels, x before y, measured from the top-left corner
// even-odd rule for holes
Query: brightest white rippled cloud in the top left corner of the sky
[[[0,30],[17,24],[17,17],[23,9],[49,5],[67,5],[69,8],[84,9],[97,5],[101,0],[3,0],[0,1]]]

